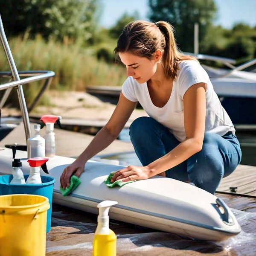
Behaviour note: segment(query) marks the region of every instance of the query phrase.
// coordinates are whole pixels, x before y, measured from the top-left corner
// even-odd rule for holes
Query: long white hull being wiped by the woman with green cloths
[[[0,148],[0,175],[12,174],[12,151]],[[17,151],[24,174],[29,174],[25,151]],[[81,175],[81,184],[69,196],[59,190],[59,177],[64,168],[75,159],[55,156],[47,162],[49,176],[56,182],[53,202],[56,204],[98,214],[96,205],[104,200],[118,201],[110,209],[110,218],[157,230],[189,236],[195,239],[221,241],[241,231],[233,213],[224,204],[231,223],[223,220],[222,207],[214,195],[166,177],[155,176],[125,186],[108,188],[107,175],[122,168],[89,161]],[[41,175],[45,175],[41,172]],[[223,208],[222,208],[223,210]],[[227,219],[226,219],[227,220]]]

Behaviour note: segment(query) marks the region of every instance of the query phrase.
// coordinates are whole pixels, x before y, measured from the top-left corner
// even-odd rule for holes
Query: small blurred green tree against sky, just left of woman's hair
[[[119,20],[117,20],[116,25],[113,26],[110,30],[109,30],[109,35],[112,38],[119,38],[119,35],[122,33],[124,27],[130,23],[131,21],[134,20],[138,20],[139,19],[139,13],[138,12],[134,12],[133,15],[128,15],[127,12],[125,12],[120,18]]]

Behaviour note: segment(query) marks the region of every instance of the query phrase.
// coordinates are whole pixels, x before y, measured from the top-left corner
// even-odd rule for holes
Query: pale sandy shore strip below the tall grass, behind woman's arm
[[[62,116],[63,118],[109,120],[116,107],[116,105],[102,102],[95,96],[85,92],[47,91],[45,94],[49,97],[49,105],[37,105],[29,115],[41,116],[50,114]],[[2,109],[2,116],[17,116],[20,114],[20,111],[15,108],[4,107]],[[135,109],[129,120],[132,121],[140,116],[147,116],[147,114],[144,110]]]

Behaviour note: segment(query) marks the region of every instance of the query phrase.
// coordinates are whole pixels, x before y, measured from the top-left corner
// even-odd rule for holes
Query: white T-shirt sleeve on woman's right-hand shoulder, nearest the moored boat
[[[177,84],[181,99],[183,99],[184,94],[193,84],[209,83],[207,72],[198,62],[192,60],[181,61],[179,68]]]

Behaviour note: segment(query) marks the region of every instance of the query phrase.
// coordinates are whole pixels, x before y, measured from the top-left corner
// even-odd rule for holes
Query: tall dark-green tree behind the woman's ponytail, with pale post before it
[[[217,11],[214,0],[149,0],[149,7],[150,20],[166,20],[175,27],[177,45],[184,52],[193,52],[194,24],[199,24],[203,42]]]

